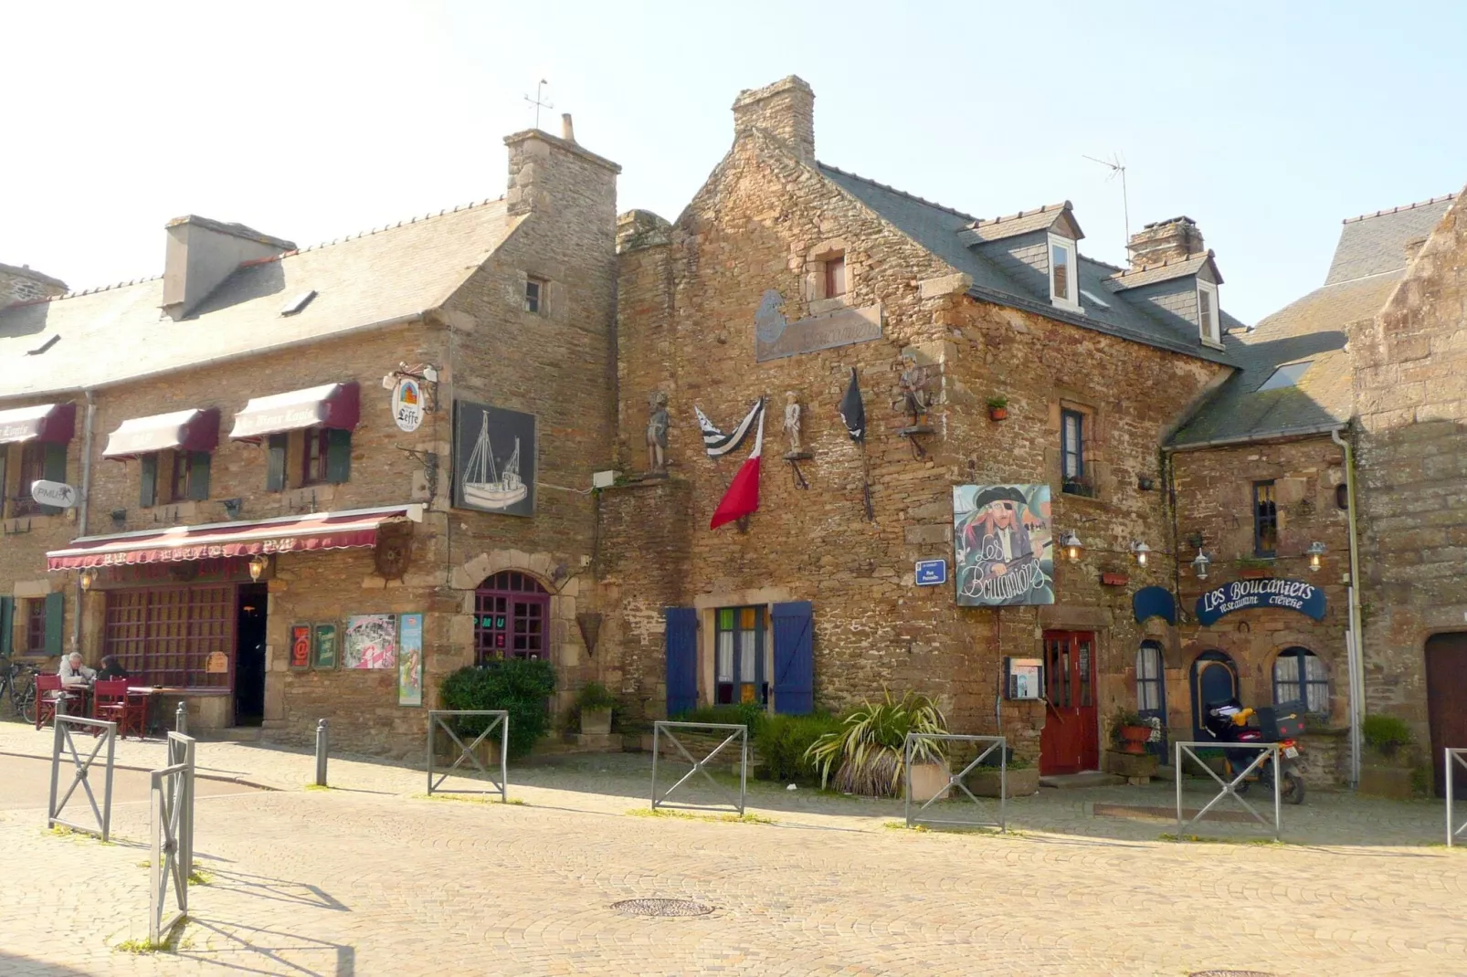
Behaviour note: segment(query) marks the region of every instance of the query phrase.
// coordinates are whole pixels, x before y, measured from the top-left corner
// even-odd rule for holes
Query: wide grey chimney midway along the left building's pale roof
[[[289,241],[194,214],[175,217],[167,223],[167,232],[163,311],[175,320],[192,312],[245,261],[295,251]]]

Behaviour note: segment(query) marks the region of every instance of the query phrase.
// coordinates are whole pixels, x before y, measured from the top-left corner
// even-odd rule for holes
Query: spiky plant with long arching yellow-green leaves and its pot
[[[886,692],[877,704],[863,703],[822,735],[805,755],[820,770],[820,786],[846,794],[901,797],[907,779],[907,733],[912,744],[912,799],[948,795],[948,757],[930,733],[948,732],[948,720],[930,698],[907,692],[901,700]]]

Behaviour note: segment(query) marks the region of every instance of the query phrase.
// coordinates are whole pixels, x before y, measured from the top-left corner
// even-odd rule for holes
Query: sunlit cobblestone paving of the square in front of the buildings
[[[0,753],[48,744],[0,723]],[[200,798],[213,880],[179,951],[114,949],[147,933],[147,804],[119,804],[101,845],[44,832],[43,797],[0,810],[0,974],[1467,974],[1467,852],[1422,845],[1441,805],[1311,797],[1285,824],[1335,841],[1174,844],[1163,822],[1090,817],[1108,791],[1018,801],[1024,833],[993,836],[890,829],[899,802],[775,785],[751,797],[776,824],[632,817],[648,761],[631,754],[512,767],[511,805],[427,799],[421,770],[364,758],[304,791],[308,754],[198,757],[282,789]],[[119,745],[119,763],[160,758]],[[34,761],[0,757],[0,791],[7,763]],[[651,896],[716,908],[610,908]]]

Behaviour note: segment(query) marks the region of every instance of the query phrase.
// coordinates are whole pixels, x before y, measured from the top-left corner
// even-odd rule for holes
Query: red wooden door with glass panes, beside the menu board
[[[1045,692],[1049,701],[1045,706],[1045,731],[1039,738],[1040,773],[1080,773],[1100,766],[1094,651],[1094,634],[1045,632]]]

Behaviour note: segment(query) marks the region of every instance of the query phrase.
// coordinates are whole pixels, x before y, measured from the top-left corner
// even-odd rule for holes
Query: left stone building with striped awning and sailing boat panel
[[[191,216],[157,279],[0,266],[0,650],[393,753],[458,666],[575,685],[619,167],[569,117],[506,145],[505,197],[324,245]]]

